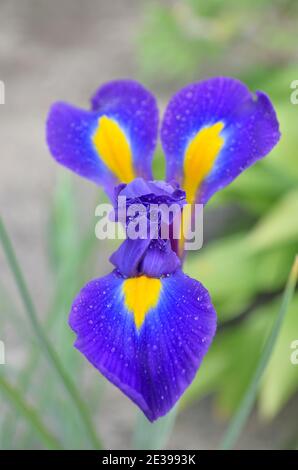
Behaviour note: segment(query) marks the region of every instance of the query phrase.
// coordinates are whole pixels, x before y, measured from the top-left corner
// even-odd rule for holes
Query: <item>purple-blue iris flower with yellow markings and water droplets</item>
[[[154,181],[159,119],[141,84],[103,85],[91,110],[55,103],[47,120],[53,157],[70,170],[133,202],[205,205],[264,157],[279,140],[265,93],[218,77],[186,86],[170,100],[160,136],[165,181]],[[216,330],[205,287],[182,271],[183,243],[126,239],[114,270],[92,280],[70,313],[76,348],[137,404],[150,421],[165,415],[194,379]]]

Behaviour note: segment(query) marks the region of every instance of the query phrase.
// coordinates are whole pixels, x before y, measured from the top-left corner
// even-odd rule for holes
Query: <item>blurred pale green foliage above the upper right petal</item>
[[[226,72],[270,78],[297,58],[295,0],[147,2],[139,37],[145,79],[169,83]]]

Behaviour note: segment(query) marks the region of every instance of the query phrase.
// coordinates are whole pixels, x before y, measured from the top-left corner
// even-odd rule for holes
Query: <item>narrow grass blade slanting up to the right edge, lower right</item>
[[[272,327],[269,338],[266,341],[263,353],[261,355],[260,361],[255,371],[255,374],[238,408],[238,411],[236,412],[235,416],[232,418],[231,423],[224,435],[224,438],[220,445],[221,449],[231,449],[234,446],[253,408],[261,379],[269,363],[272,351],[274,349],[276,340],[278,338],[278,334],[282,327],[283,320],[287,313],[291,299],[294,295],[297,277],[298,277],[298,256],[296,256],[293,267],[291,269],[289,279],[288,279],[288,282],[287,282],[287,285],[283,294],[283,299],[282,299],[279,313]]]

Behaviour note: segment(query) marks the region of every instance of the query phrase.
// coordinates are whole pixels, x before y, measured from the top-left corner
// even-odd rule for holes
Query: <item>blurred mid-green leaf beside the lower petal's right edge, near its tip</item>
[[[204,358],[193,383],[181,400],[188,406],[194,400],[215,393],[221,414],[229,416],[238,407],[256,368],[273,306],[257,308],[239,325],[219,331]]]

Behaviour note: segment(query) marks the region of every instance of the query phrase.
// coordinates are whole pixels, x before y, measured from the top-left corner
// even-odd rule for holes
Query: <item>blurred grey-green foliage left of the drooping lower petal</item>
[[[92,277],[92,266],[100,252],[97,250],[94,258],[96,239],[93,226],[90,225],[85,232],[81,228],[73,177],[70,174],[62,173],[57,180],[48,226],[48,261],[52,277],[49,291],[52,297],[48,311],[43,313],[40,321],[61,363],[79,384],[90,415],[95,415],[99,409],[102,381],[96,374],[97,379],[89,383],[86,391],[82,368],[84,361],[80,354],[74,353],[74,335],[67,321],[74,296]],[[55,370],[49,366],[47,357],[41,353],[30,324],[23,319],[24,315],[18,311],[7,293],[1,295],[3,306],[2,299],[6,299],[7,310],[14,314],[1,315],[1,331],[13,321],[23,345],[24,357],[20,370],[13,369],[9,364],[1,368],[0,392],[13,406],[1,413],[0,448],[39,448],[41,442],[49,448],[57,448],[54,439],[51,441],[52,433],[63,448],[90,448],[92,444],[82,426],[78,410],[65,393]],[[25,332],[28,333],[24,335]],[[20,416],[26,418],[25,426]],[[39,422],[39,419],[42,421]],[[46,426],[45,430],[43,426]]]

